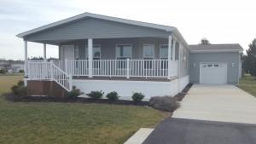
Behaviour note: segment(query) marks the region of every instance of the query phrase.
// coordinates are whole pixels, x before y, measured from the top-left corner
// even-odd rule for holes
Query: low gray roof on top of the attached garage
[[[239,43],[230,44],[195,44],[189,45],[192,53],[200,52],[239,52],[243,49]]]

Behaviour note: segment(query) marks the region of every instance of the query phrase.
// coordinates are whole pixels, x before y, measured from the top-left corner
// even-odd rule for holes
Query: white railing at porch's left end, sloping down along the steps
[[[28,78],[31,80],[51,80],[62,88],[73,89],[72,76],[61,70],[53,61],[28,61]]]

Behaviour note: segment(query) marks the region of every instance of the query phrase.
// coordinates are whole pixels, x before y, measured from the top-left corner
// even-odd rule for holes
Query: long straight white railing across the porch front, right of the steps
[[[93,60],[93,76],[168,78],[168,60]],[[177,76],[177,61],[171,61]],[[88,60],[66,60],[65,70],[72,76],[88,76]]]

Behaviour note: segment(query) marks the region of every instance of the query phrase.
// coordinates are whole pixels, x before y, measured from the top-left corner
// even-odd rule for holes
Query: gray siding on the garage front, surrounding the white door
[[[199,83],[200,62],[226,62],[228,66],[227,81],[229,84],[237,84],[239,74],[239,61],[240,58],[238,52],[191,53],[189,56],[190,83]],[[232,66],[232,63],[235,63],[235,66]]]

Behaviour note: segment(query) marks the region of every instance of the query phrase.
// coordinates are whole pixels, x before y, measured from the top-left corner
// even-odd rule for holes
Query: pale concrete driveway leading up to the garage
[[[234,85],[195,84],[172,118],[256,124],[256,98]]]

